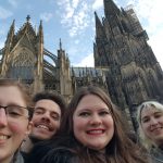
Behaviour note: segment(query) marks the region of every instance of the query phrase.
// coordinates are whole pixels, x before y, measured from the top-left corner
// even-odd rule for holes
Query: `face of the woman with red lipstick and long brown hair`
[[[114,122],[108,105],[97,96],[87,95],[73,115],[74,136],[84,146],[103,150],[114,134]]]

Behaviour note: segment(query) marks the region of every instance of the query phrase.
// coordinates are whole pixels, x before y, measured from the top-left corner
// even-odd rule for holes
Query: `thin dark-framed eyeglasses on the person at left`
[[[0,105],[0,109],[4,109],[7,117],[11,120],[17,120],[21,117],[29,117],[29,110],[25,106],[20,105],[7,105],[2,106]]]

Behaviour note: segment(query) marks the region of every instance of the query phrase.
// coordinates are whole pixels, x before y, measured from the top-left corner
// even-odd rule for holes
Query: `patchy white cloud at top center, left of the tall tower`
[[[67,28],[71,37],[82,34],[90,24],[90,7],[86,0],[65,0],[58,2],[61,10],[61,24]],[[62,12],[63,11],[63,12]]]

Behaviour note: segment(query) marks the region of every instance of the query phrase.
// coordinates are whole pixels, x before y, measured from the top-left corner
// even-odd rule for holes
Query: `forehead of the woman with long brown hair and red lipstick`
[[[108,108],[108,105],[98,96],[96,96],[96,95],[86,95],[79,101],[76,110],[91,109],[91,108],[93,108],[93,109],[103,108],[104,109],[104,108]]]

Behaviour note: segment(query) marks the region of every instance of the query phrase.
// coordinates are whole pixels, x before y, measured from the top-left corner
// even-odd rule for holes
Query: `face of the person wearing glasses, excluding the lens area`
[[[8,105],[26,108],[26,103],[17,87],[0,86],[0,162],[3,163],[11,161],[11,158],[20,148],[23,139],[29,134],[32,124],[26,116],[26,110],[22,110],[24,116],[20,116],[11,111],[11,117],[9,117],[9,114],[7,116],[2,108]]]

